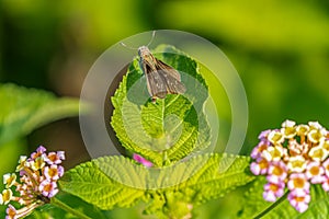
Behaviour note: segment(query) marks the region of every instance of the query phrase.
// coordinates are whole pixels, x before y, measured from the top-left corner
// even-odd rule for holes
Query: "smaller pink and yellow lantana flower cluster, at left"
[[[8,205],[5,219],[22,218],[35,208],[49,203],[58,193],[57,181],[64,174],[59,165],[65,160],[64,151],[48,152],[39,146],[30,158],[22,155],[16,173],[3,175],[5,188],[0,194],[0,204]],[[22,208],[16,209],[10,201],[16,201]]]

